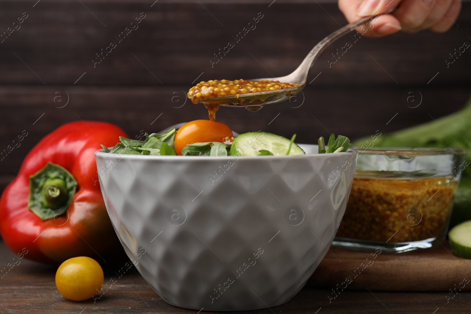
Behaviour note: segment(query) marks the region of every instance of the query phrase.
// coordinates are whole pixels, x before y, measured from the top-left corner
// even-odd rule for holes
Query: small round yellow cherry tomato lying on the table
[[[103,285],[103,269],[93,258],[69,258],[56,272],[57,290],[68,299],[82,301],[95,296]]]

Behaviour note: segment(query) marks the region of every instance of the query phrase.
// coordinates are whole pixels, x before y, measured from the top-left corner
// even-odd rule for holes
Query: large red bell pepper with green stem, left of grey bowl
[[[10,250],[25,248],[25,258],[54,264],[121,254],[94,156],[101,144],[113,146],[120,136],[127,137],[113,124],[76,121],[33,147],[0,199],[0,233]]]

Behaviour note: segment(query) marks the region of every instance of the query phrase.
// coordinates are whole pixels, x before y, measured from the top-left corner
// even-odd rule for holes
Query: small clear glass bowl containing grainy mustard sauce
[[[445,240],[465,153],[461,148],[359,150],[332,245],[405,252]]]

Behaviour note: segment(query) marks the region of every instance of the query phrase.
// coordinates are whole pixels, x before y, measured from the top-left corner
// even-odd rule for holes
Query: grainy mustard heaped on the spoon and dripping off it
[[[225,96],[235,96],[241,94],[259,93],[265,91],[274,91],[281,89],[291,89],[297,87],[299,84],[282,83],[280,81],[247,81],[247,80],[210,80],[199,82],[196,86],[188,91],[188,98],[192,103],[197,104],[201,101]],[[216,111],[219,105],[204,104],[208,109],[209,119],[215,120]]]

